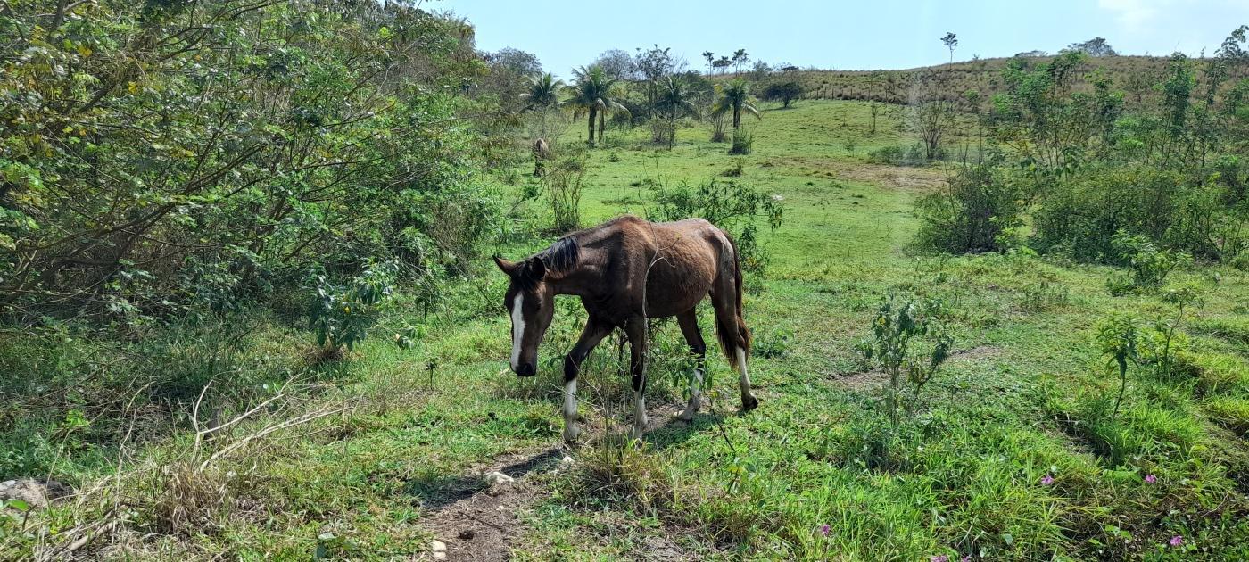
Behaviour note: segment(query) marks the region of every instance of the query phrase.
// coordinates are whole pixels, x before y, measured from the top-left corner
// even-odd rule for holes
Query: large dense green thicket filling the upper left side
[[[497,232],[462,22],[401,2],[0,15],[0,312],[141,322],[313,262],[463,269]],[[202,25],[211,21],[212,25]]]

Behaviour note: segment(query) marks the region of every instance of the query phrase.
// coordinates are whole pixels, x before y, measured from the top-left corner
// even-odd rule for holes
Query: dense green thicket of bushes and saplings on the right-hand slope
[[[1157,76],[1159,95],[1130,112],[1115,89],[1123,85],[1090,71],[1077,51],[1037,65],[1010,62],[982,120],[989,154],[1000,157],[993,159],[998,170],[978,176],[995,179],[968,181],[962,174],[950,192],[927,197],[921,244],[944,251],[995,249],[995,236],[984,234],[1014,227],[1030,212],[1035,235],[1028,244],[1042,252],[1124,262],[1113,242],[1123,231],[1159,251],[1235,262],[1249,249],[1249,174],[1240,156],[1249,79],[1232,80],[1244,42],[1240,29],[1200,62],[1173,55]],[[869,156],[907,160],[898,147]],[[1019,204],[1010,205],[1012,199]]]

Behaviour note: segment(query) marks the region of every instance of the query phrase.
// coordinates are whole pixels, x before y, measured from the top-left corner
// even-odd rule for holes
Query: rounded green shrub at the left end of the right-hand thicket
[[[1003,232],[1018,226],[1025,209],[1023,190],[988,165],[965,166],[949,184],[917,205],[917,242],[943,252],[1002,250]]]

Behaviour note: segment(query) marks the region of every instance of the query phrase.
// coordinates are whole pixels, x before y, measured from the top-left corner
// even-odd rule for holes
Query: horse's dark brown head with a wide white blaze
[[[555,315],[555,295],[545,282],[547,269],[538,256],[521,262],[495,257],[511,283],[503,307],[512,316],[512,371],[522,377],[537,373],[538,343]]]

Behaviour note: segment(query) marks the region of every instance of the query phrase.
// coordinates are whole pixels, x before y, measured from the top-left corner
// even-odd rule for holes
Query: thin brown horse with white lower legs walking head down
[[[512,316],[512,371],[537,372],[537,348],[555,313],[556,295],[576,295],[590,315],[581,338],[563,360],[563,438],[575,442],[577,372],[591,350],[615,328],[628,336],[633,386],[633,437],[646,430],[646,321],[676,316],[697,363],[689,403],[681,418],[698,412],[707,343],[698,330],[696,306],[711,295],[716,332],[728,362],[737,368],[742,408],[753,410],[746,360],[751,331],[742,318],[742,269],[732,239],[711,222],[688,219],[648,222],[622,216],[572,232],[521,261],[495,257],[511,277],[503,306]]]

